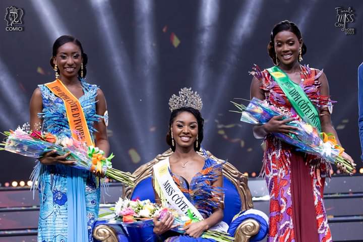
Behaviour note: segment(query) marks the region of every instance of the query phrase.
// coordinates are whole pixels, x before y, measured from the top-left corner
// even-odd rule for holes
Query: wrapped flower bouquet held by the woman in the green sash
[[[263,125],[277,115],[283,115],[282,119],[290,118],[280,109],[255,97],[248,106],[232,103],[239,109],[235,112],[241,113],[240,120],[248,124]],[[305,118],[293,120],[286,125],[297,127],[298,130],[294,131],[297,135],[275,133],[274,136],[297,147],[298,151],[319,156],[335,165],[340,164],[345,167],[347,173],[353,172],[354,166],[341,156],[344,149],[337,144],[333,134],[320,133]]]

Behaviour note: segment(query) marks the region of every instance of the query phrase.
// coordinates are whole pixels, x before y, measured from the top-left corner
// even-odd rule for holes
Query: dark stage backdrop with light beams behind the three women
[[[134,171],[168,146],[168,100],[192,87],[204,102],[202,145],[242,172],[258,173],[261,141],[240,123],[230,100],[250,97],[253,64],[271,67],[267,44],[274,24],[294,21],[308,52],[302,64],[324,69],[334,106],[332,123],[358,167],[357,67],[362,58],[363,3],[356,1],[1,1],[0,13],[24,10],[23,31],[0,21],[0,130],[28,122],[37,84],[54,80],[54,40],[76,36],[89,56],[87,82],[103,90],[109,111],[113,166]],[[335,27],[336,7],[351,8],[355,28]],[[2,18],[3,19],[3,18]],[[19,29],[19,28],[18,28]],[[0,182],[28,180],[34,159],[0,152]]]

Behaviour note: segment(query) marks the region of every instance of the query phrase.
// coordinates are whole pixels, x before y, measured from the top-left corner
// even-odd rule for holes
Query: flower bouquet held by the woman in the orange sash
[[[104,152],[97,147],[87,146],[69,137],[57,137],[50,133],[31,131],[28,124],[3,134],[7,136],[7,139],[0,144],[4,147],[0,150],[34,158],[40,158],[44,153],[52,150],[56,150],[58,155],[70,153],[67,159],[75,160],[73,167],[107,176],[128,186],[135,186],[135,177],[130,172],[112,168],[111,159],[114,155],[104,157]]]

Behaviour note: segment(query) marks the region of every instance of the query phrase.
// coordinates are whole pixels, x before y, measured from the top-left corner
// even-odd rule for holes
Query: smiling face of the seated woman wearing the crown
[[[173,120],[171,132],[176,149],[194,147],[194,142],[198,137],[197,118],[190,112],[180,112]]]

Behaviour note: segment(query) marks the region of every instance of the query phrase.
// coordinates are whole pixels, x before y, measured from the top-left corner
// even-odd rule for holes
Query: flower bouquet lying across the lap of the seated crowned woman
[[[157,217],[159,220],[163,219],[167,213],[171,213],[174,217],[173,225],[177,227],[173,228],[173,231],[184,233],[185,230],[182,228],[193,223],[200,221],[190,210],[188,210],[188,216],[181,214],[172,208],[163,208],[161,205],[152,203],[150,200],[140,201],[139,199],[131,201],[129,199],[119,198],[116,202],[115,207],[109,208],[111,212],[105,212],[100,214],[98,217],[108,215],[114,215],[113,220],[122,222],[126,227],[144,227],[152,226],[153,218]],[[111,221],[109,219],[109,221]],[[219,242],[232,242],[234,237],[229,236],[228,233],[219,232],[215,230],[207,230],[202,234],[203,238],[212,238]]]

